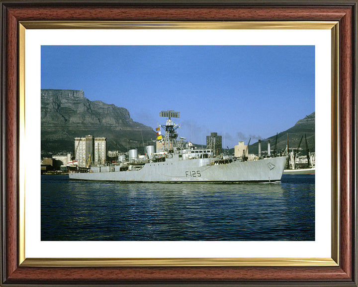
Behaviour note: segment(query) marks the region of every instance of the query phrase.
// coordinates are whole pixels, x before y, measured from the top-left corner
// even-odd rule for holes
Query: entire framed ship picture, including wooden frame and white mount
[[[357,286],[356,0],[3,0],[0,4],[2,285]],[[116,79],[121,82],[116,83]],[[70,90],[85,82],[100,96],[93,97],[81,88]],[[244,82],[251,88],[243,88]],[[112,90],[106,90],[110,85]],[[126,95],[123,106],[109,95],[114,89]],[[63,93],[66,101],[86,101],[88,110],[73,112],[75,104],[65,103]],[[61,99],[46,103],[48,95]],[[61,101],[67,108],[60,107]],[[62,114],[51,113],[46,105],[61,109]],[[130,107],[132,117],[117,106]],[[170,110],[172,107],[179,110]],[[62,132],[61,123],[67,121],[65,111],[88,117],[90,122],[97,108],[112,109],[117,117],[127,119],[128,125],[134,125],[132,136],[120,125],[115,127],[114,119],[98,116],[99,122],[112,123],[112,129],[121,136],[110,143],[113,133],[97,129],[100,134],[93,134],[95,139],[91,140],[93,154],[84,155],[83,164],[72,172],[74,160],[80,160],[81,138],[75,140],[76,133],[69,130]],[[268,130],[268,123],[263,122],[281,129],[283,126],[276,123],[292,121],[298,111],[307,117],[296,119],[291,126],[298,120],[309,125],[313,118],[313,154],[317,159],[315,175],[305,177],[305,185],[300,181],[300,188],[295,189],[300,193],[299,205],[290,194],[297,182],[282,179],[279,183],[290,154],[288,133],[285,150],[277,145],[277,136],[276,143],[271,139],[271,148],[269,141],[251,145],[252,150],[258,148],[252,151],[251,160],[244,142],[235,145],[235,150],[240,144],[244,146],[241,155],[239,151],[234,155],[234,150],[231,155],[226,148],[238,139],[259,140],[261,137],[249,130]],[[159,112],[166,124],[156,123]],[[245,120],[237,121],[238,115]],[[177,119],[184,116],[187,119]],[[254,119],[260,116],[263,119]],[[200,120],[195,117],[210,123],[210,127],[197,124]],[[46,131],[46,139],[44,127],[48,123],[44,118],[58,124],[56,131]],[[174,120],[181,124],[179,136],[182,133],[184,137],[178,138],[179,125]],[[145,121],[151,128],[137,123]],[[83,126],[85,122],[81,123]],[[248,123],[250,127],[245,130]],[[77,125],[75,131],[86,133],[82,126]],[[232,137],[233,130],[240,132]],[[307,136],[308,141],[302,136],[298,146],[303,140],[302,146],[305,143],[307,149],[304,157],[310,165],[313,155],[308,151]],[[86,141],[87,137],[91,136],[86,134]],[[153,153],[152,137],[153,142],[157,140]],[[70,182],[69,177],[80,179],[75,181],[76,191],[66,186],[65,180],[54,187],[54,182],[40,177],[36,168],[43,152],[41,145],[67,144],[63,139],[77,154],[69,159],[72,165],[66,175],[66,182]],[[191,142],[184,141],[188,139]],[[216,146],[217,139],[220,147]],[[98,141],[127,152],[116,153],[108,164],[102,160]],[[159,152],[158,148],[163,150]],[[219,155],[219,148],[223,150],[221,157],[211,154],[216,150]],[[292,155],[296,149],[291,147]],[[83,181],[101,181],[103,176],[113,181],[110,176],[116,172],[132,181],[128,174],[148,168],[162,168],[169,174],[171,167],[167,165],[175,161],[175,150],[178,162],[195,159],[200,168],[181,168],[182,174],[171,175],[170,181],[215,181],[217,178],[206,170],[210,167],[215,169],[212,174],[219,177],[218,181],[235,183],[225,187],[222,183],[157,183],[155,188],[148,183],[127,183],[118,190],[117,183]],[[121,156],[128,158],[121,161]],[[236,160],[251,170],[248,175],[241,170],[238,180],[229,175]],[[269,175],[256,171],[255,166],[262,162]],[[273,174],[281,165],[280,176],[275,178]],[[42,166],[47,168],[44,162]],[[201,169],[203,166],[208,167]],[[152,179],[153,173],[144,172],[142,176],[135,181]],[[163,178],[153,181],[165,181]],[[269,184],[261,183],[259,188],[257,183],[237,181]],[[195,185],[193,190],[188,188],[190,184]],[[205,191],[193,196],[198,186],[205,184]],[[262,198],[251,198],[248,186],[259,194],[264,189]],[[61,190],[61,196],[54,189]],[[103,192],[98,193],[101,189]],[[175,197],[177,193],[180,198]],[[127,201],[126,206],[115,199],[123,194],[127,194],[122,200]],[[72,202],[82,207],[76,211],[66,208]],[[237,216],[245,217],[245,210],[256,210],[256,217],[245,219],[249,231],[244,233],[243,228],[240,234]],[[263,220],[274,212],[277,217]],[[85,222],[91,214],[100,214],[100,229],[97,223]],[[121,219],[111,221],[113,214]],[[294,224],[295,232],[291,229]]]

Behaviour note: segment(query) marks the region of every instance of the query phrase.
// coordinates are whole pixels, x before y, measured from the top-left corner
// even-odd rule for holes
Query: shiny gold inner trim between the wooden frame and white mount
[[[25,31],[26,29],[330,29],[332,78],[331,258],[26,258],[25,257]],[[165,21],[20,21],[19,22],[19,265],[88,266],[338,266],[339,262],[339,33],[337,21],[165,22]]]

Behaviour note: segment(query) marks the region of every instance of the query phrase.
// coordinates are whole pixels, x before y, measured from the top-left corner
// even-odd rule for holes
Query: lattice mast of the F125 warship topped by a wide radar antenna
[[[163,150],[168,153],[174,153],[177,149],[178,134],[176,131],[179,129],[179,126],[175,124],[171,118],[180,118],[180,112],[175,112],[173,110],[161,111],[159,116],[168,118],[166,125],[161,125],[162,129],[165,131]]]

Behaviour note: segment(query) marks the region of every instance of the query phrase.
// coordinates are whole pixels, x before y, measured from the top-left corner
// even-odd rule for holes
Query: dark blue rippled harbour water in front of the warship
[[[41,175],[42,241],[312,241],[315,175],[118,183]]]

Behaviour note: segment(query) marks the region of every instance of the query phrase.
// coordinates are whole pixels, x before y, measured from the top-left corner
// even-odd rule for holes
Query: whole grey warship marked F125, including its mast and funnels
[[[179,125],[172,118],[179,112],[161,111],[166,125],[158,127],[158,141],[162,152],[154,152],[154,145],[146,146],[146,155],[138,157],[137,150],[129,150],[121,162],[86,168],[69,168],[72,180],[118,182],[276,182],[281,180],[287,156],[246,160],[228,155],[214,156],[210,148],[196,148],[179,138]],[[160,129],[165,132],[162,138]],[[207,146],[208,147],[208,146]],[[75,167],[75,166],[73,166]]]

